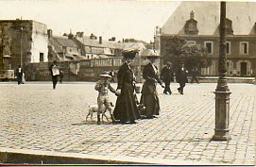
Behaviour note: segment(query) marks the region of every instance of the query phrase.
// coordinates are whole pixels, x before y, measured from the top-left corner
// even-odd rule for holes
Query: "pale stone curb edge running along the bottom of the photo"
[[[98,156],[0,147],[0,163],[19,164],[159,164],[159,165],[220,165],[188,160],[140,159],[124,156]],[[225,164],[226,165],[226,164]]]

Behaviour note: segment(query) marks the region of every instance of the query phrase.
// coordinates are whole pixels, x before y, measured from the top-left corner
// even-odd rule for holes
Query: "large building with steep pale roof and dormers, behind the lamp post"
[[[227,2],[227,75],[255,76],[256,72],[256,3]],[[162,26],[161,55],[169,36],[179,36],[187,43],[204,46],[212,65],[201,75],[218,75],[219,2],[181,2]]]

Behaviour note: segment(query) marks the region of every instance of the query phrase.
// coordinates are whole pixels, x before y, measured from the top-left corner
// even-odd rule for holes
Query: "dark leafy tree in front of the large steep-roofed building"
[[[179,36],[167,38],[163,60],[164,62],[171,61],[174,68],[179,66],[179,61],[183,61],[188,70],[194,67],[200,69],[212,64],[205,47],[196,43],[187,43]]]

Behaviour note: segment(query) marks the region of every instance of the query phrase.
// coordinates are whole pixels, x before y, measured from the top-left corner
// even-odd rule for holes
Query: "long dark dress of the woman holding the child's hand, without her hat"
[[[120,66],[117,74],[117,90],[121,90],[121,94],[117,97],[113,116],[121,122],[133,122],[141,118],[141,114],[136,106],[134,94],[134,85],[132,70],[127,63]]]

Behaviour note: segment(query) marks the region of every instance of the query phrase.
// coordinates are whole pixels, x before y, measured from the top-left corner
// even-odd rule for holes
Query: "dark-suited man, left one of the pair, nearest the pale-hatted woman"
[[[167,92],[169,92],[171,94],[172,91],[170,89],[170,83],[174,81],[174,73],[171,62],[167,62],[166,66],[162,68],[161,78],[165,86],[163,93],[167,94]]]

